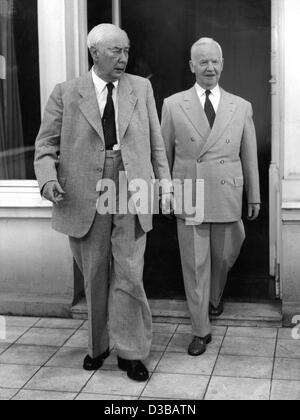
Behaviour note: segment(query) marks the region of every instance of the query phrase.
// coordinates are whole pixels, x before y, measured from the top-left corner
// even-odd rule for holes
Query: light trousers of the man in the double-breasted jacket
[[[220,304],[228,272],[245,240],[242,221],[187,226],[177,219],[178,240],[193,335],[211,333],[209,302]]]

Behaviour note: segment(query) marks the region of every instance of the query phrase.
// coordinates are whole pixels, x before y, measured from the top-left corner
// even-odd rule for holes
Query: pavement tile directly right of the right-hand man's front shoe
[[[272,338],[226,336],[222,355],[274,357],[276,340]]]

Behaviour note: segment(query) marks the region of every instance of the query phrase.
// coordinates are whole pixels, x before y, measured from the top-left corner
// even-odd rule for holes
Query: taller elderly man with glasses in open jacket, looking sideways
[[[142,277],[152,214],[99,214],[99,181],[111,180],[119,191],[123,171],[128,183],[138,179],[150,185],[155,175],[168,185],[171,177],[151,84],[125,73],[127,34],[99,25],[90,32],[88,47],[92,70],[56,86],[46,106],[35,171],[43,196],[54,203],[53,227],[69,236],[85,279],[89,354],[84,369],[99,369],[109,355],[109,313],[119,368],[146,381],[142,360],[150,352],[152,318]]]

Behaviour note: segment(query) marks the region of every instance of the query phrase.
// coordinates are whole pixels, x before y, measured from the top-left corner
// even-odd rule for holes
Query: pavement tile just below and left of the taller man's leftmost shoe
[[[42,368],[25,389],[35,391],[80,392],[92,372],[83,369]]]

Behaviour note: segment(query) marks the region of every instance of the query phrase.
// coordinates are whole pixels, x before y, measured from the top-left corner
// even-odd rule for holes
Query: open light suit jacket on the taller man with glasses
[[[118,87],[119,136],[129,182],[168,179],[153,90],[147,79],[125,74]],[[46,106],[36,140],[35,172],[39,186],[58,180],[65,200],[54,205],[53,227],[69,236],[85,236],[96,214],[105,140],[91,72],[57,85]],[[139,215],[142,229],[152,229],[152,215]]]

